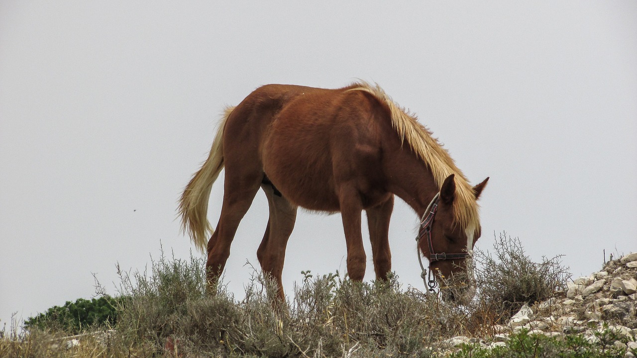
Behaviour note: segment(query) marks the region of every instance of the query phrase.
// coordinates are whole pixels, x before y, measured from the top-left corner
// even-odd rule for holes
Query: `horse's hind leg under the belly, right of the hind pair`
[[[285,197],[275,195],[272,185],[262,185],[262,189],[268,197],[270,217],[266,233],[257,250],[257,258],[262,271],[276,280],[278,297],[285,302],[281,275],[283,261],[285,261],[285,247],[294,229],[297,207]]]

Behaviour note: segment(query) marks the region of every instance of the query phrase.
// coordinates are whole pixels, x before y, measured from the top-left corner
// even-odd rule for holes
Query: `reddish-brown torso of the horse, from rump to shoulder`
[[[258,163],[293,203],[339,211],[340,182],[355,176],[366,191],[378,186],[368,180],[382,177],[377,117],[387,113],[378,107],[368,94],[348,87],[265,85],[229,117],[227,131],[232,135],[224,140],[224,152],[229,152],[227,141],[233,141],[228,144],[237,161],[243,166],[246,161]],[[230,162],[227,158],[226,164]]]

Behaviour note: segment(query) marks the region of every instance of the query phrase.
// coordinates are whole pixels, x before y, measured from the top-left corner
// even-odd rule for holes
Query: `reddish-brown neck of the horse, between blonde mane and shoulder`
[[[387,168],[389,189],[422,216],[438,193],[438,185],[426,164],[403,147],[392,155]]]

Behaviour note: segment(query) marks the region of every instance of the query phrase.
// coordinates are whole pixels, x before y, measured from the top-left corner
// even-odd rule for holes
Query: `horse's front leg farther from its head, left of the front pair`
[[[367,257],[362,246],[362,203],[358,191],[354,188],[341,189],[340,206],[347,242],[347,273],[352,280],[362,281]]]

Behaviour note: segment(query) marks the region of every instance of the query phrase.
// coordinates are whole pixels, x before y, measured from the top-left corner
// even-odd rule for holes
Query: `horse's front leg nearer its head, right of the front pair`
[[[387,273],[392,269],[392,254],[389,250],[389,219],[393,209],[394,196],[392,195],[387,201],[366,210],[376,280],[387,280]]]

